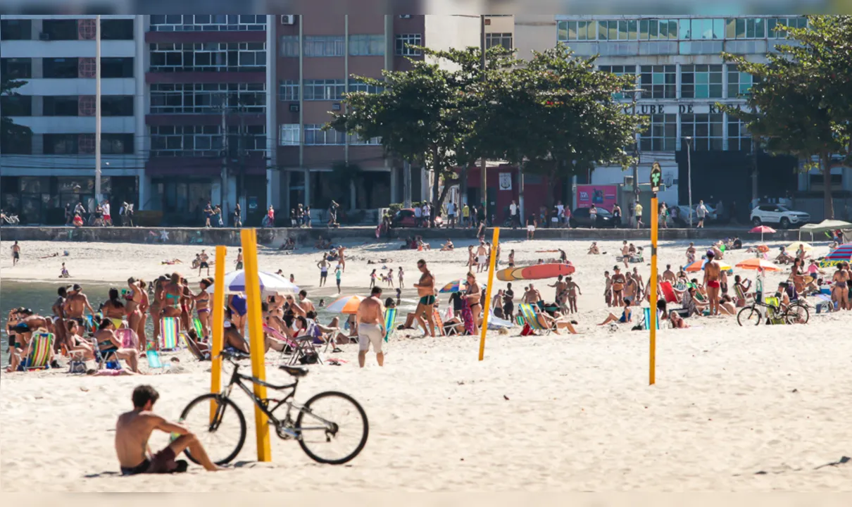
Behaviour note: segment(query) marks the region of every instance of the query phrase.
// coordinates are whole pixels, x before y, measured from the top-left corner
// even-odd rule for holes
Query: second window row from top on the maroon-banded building
[[[256,72],[266,67],[266,43],[153,43],[154,72]]]

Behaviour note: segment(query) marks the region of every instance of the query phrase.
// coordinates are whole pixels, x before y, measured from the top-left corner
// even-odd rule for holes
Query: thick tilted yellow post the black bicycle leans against
[[[266,382],[266,366],[263,362],[263,314],[261,311],[261,283],[257,274],[257,231],[243,229],[240,232],[243,244],[243,264],[245,268],[245,297],[249,318],[249,349],[251,352],[251,375]],[[255,396],[265,400],[266,388],[254,384]],[[269,424],[261,409],[255,406],[255,435],[257,439],[257,461],[272,459],[269,448]]]

